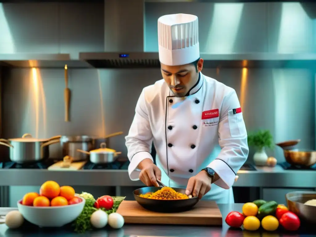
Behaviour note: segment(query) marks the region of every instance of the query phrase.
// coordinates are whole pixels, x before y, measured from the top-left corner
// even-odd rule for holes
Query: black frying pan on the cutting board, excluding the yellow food
[[[145,197],[139,197],[139,194],[146,194],[149,192],[155,192],[162,187],[143,187],[133,191],[135,200],[145,209],[155,212],[182,212],[192,209],[192,207],[199,201],[198,197],[191,197],[189,199],[177,199],[177,200],[161,200],[161,199],[149,199]],[[185,189],[173,188],[176,192],[185,194]]]

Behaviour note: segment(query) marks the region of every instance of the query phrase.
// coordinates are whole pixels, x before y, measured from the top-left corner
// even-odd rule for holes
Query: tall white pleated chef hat
[[[158,19],[159,60],[168,66],[189,64],[200,57],[197,16],[164,15]]]

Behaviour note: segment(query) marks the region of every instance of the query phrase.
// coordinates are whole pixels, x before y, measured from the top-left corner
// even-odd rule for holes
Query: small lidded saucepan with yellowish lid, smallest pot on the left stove
[[[106,148],[106,143],[101,143],[99,149],[91,150],[90,152],[77,149],[77,151],[90,155],[90,161],[94,164],[107,164],[116,161],[116,158],[122,152]]]

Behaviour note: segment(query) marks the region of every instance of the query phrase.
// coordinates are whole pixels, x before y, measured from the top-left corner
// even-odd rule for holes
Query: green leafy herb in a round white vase
[[[273,148],[273,137],[269,130],[259,130],[248,135],[248,145],[256,147],[257,151],[253,155],[253,161],[257,166],[267,164],[268,155],[265,153],[265,148]]]

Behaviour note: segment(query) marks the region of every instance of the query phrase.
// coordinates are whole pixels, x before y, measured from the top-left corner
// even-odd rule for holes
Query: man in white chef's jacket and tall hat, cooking
[[[197,16],[161,16],[158,44],[163,79],[143,88],[125,137],[130,179],[234,203],[232,185],[249,151],[237,94],[201,73]]]

